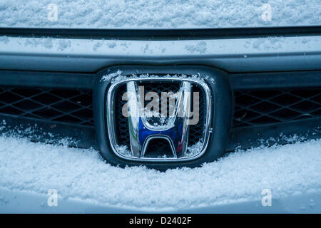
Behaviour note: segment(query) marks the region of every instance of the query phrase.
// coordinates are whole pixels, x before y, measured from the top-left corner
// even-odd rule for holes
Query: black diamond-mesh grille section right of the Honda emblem
[[[235,92],[233,127],[321,117],[321,88]]]

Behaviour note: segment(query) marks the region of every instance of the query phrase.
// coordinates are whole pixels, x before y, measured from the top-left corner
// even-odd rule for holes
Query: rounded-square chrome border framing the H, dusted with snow
[[[173,82],[173,81],[177,81],[180,83],[184,83],[185,85],[188,84],[197,84],[198,86],[200,86],[200,88],[203,89],[204,94],[205,94],[205,130],[204,130],[204,137],[203,137],[203,145],[201,146],[200,151],[190,157],[177,157],[174,156],[173,157],[165,157],[165,158],[154,158],[154,157],[143,157],[143,156],[139,156],[139,157],[135,157],[135,156],[128,156],[128,155],[123,155],[123,153],[121,153],[119,151],[119,146],[117,144],[116,141],[116,123],[115,123],[115,116],[114,116],[114,102],[115,102],[115,92],[117,90],[117,88],[123,84],[131,84],[130,82],[143,82],[143,81],[163,81],[163,82]],[[180,77],[180,76],[159,76],[159,77],[145,77],[145,76],[139,76],[137,78],[123,78],[120,81],[117,82],[112,82],[111,86],[109,86],[108,91],[106,93],[106,123],[107,123],[107,131],[108,131],[108,138],[109,138],[109,142],[111,145],[111,148],[113,150],[113,152],[118,156],[121,157],[125,160],[132,160],[132,161],[146,161],[146,162],[180,162],[180,161],[188,161],[188,160],[195,160],[198,157],[202,156],[207,147],[208,147],[208,143],[209,143],[209,139],[210,139],[210,133],[212,133],[212,126],[210,126],[211,123],[211,119],[212,119],[212,95],[211,95],[211,90],[208,87],[207,83],[205,83],[205,81],[202,78],[202,81],[195,81],[194,78],[190,78],[190,77]],[[129,129],[128,129],[129,130]],[[186,134],[187,135],[187,134]],[[168,140],[168,142],[170,142],[170,139],[166,136],[166,135],[158,135],[158,138],[164,138],[165,140]],[[146,149],[146,144],[148,143],[148,140],[151,140],[151,138],[146,138],[146,142],[144,143],[143,147],[145,147]],[[170,143],[170,147],[172,148],[172,150],[174,151],[175,148],[173,148],[173,143]],[[128,148],[128,150],[131,150],[131,148]],[[133,152],[133,151],[132,151]]]

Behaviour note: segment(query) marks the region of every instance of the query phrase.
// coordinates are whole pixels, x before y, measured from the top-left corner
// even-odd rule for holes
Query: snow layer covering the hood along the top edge
[[[49,4],[56,4],[57,19],[52,19],[53,9],[49,9]],[[320,5],[320,0],[0,0],[0,26],[46,28],[307,26],[320,25]]]

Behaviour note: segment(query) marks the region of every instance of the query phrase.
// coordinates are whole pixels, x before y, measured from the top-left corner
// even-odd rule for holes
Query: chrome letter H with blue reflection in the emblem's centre
[[[128,103],[125,108],[128,109],[128,130],[133,155],[143,158],[148,142],[161,138],[169,142],[174,158],[184,157],[190,125],[191,83],[181,83],[173,116],[170,115],[164,125],[151,125],[148,122],[136,81],[126,83],[126,88]]]

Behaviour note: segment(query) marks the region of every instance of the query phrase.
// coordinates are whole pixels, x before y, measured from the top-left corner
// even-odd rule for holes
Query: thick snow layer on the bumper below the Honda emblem
[[[260,200],[264,189],[272,199],[321,190],[321,139],[237,151],[202,167],[166,172],[113,167],[93,149],[14,136],[1,136],[0,145],[1,189],[42,195],[55,189],[61,199],[106,207],[196,209]]]

